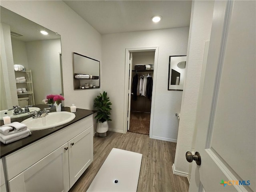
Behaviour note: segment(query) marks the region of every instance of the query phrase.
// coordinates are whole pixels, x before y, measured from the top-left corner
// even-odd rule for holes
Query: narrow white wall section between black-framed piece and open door
[[[204,47],[205,42],[210,40],[213,7],[213,1],[192,2],[187,76],[182,95],[178,142],[173,167],[176,174],[184,176],[189,175],[190,163],[186,161],[185,154],[192,150]]]

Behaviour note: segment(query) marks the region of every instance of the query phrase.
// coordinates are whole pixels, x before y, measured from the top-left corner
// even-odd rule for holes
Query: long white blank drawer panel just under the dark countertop
[[[50,154],[92,125],[93,118],[92,115],[90,115],[16,152],[13,152],[8,156],[5,156],[6,179],[10,180],[14,178],[14,176],[20,174],[22,171],[32,166],[34,163],[38,162],[46,155]]]

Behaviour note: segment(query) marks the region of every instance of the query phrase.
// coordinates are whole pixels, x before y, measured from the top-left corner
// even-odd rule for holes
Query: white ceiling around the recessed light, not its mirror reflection
[[[100,34],[188,27],[192,1],[64,0]],[[158,23],[152,16],[161,15]]]

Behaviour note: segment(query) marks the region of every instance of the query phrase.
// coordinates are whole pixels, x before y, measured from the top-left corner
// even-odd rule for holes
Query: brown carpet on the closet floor
[[[131,112],[128,132],[149,135],[150,113]]]

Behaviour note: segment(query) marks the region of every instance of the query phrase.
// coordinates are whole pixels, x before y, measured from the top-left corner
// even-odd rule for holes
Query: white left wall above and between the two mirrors
[[[61,35],[65,106],[93,109],[100,89],[73,88],[72,52],[101,61],[101,35],[62,1],[5,1],[1,6]]]

